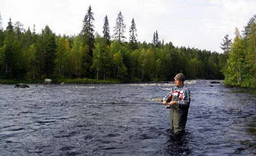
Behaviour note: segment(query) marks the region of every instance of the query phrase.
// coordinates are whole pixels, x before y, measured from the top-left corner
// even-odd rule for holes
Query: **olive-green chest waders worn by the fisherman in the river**
[[[180,91],[177,96],[173,96],[171,101],[179,101]],[[174,133],[185,130],[187,123],[188,107],[180,108],[179,106],[172,106],[170,109],[170,129]]]

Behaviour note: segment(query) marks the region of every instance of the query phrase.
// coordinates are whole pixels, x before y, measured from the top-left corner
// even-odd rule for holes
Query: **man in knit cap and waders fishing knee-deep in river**
[[[166,108],[170,108],[170,129],[178,134],[184,132],[187,123],[190,90],[184,85],[183,73],[178,73],[174,80],[176,86],[164,97],[163,104]]]

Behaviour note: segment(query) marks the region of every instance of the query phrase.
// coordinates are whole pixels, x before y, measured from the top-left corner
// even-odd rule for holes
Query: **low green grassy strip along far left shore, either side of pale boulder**
[[[90,78],[79,79],[53,79],[53,83],[121,83],[117,80],[97,80]],[[16,79],[0,79],[0,84],[17,84],[17,83],[44,83],[44,80],[16,80]]]

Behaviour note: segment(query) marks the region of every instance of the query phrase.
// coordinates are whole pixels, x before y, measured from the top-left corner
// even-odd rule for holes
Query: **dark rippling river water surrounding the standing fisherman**
[[[0,85],[0,156],[256,154],[256,95],[190,80],[186,133],[172,136],[162,98],[172,83]],[[88,104],[115,102],[123,104]],[[152,104],[124,104],[124,103]]]

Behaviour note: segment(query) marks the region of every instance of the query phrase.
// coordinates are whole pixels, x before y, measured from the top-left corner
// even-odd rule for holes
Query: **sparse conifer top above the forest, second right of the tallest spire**
[[[114,27],[114,39],[116,39],[119,43],[124,42],[126,38],[124,36],[126,25],[123,23],[123,15],[121,11],[117,15],[116,26]]]

